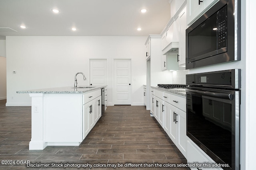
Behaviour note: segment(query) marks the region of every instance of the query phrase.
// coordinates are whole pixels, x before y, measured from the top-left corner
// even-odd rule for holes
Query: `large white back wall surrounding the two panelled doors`
[[[112,62],[132,60],[132,105],[143,105],[146,84],[145,42],[147,37],[108,36],[7,36],[6,106],[30,106],[28,94],[19,90],[73,86],[76,72],[83,72],[88,85],[89,59],[107,59],[108,105],[112,105]],[[12,71],[16,71],[13,74]],[[135,79],[134,79],[135,78]]]

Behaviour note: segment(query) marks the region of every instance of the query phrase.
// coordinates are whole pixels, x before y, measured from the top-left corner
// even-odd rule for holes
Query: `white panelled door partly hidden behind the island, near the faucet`
[[[107,85],[107,60],[90,59],[90,86]]]

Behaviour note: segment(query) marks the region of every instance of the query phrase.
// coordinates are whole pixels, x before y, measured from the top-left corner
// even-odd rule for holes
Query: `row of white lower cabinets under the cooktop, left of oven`
[[[159,90],[155,89],[155,95]],[[159,93],[160,94],[160,93]],[[151,113],[154,113],[155,119],[164,128],[164,131],[168,134],[172,142],[186,157],[187,141],[186,135],[186,99],[174,94],[170,94],[169,98],[166,96],[166,92],[162,93],[158,97],[151,94]],[[168,99],[168,100],[167,100]],[[170,104],[169,102],[173,102]]]

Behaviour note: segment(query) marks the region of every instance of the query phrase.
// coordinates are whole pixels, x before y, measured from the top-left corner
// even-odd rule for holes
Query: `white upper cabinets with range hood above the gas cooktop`
[[[174,8],[176,14],[173,15],[162,33],[162,55],[165,55],[162,57],[162,70],[179,70],[179,67],[185,66],[187,9],[186,1],[181,2],[172,1],[171,6],[178,5],[178,8]],[[172,66],[170,66],[170,61],[172,61]]]

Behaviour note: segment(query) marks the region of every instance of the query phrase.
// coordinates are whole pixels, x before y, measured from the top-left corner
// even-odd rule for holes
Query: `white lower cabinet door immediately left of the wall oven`
[[[186,135],[186,112],[177,109],[177,147],[186,157],[187,135]]]

